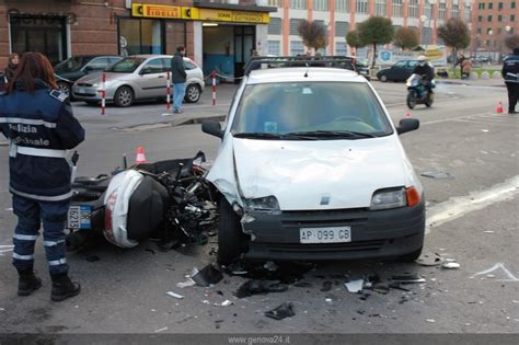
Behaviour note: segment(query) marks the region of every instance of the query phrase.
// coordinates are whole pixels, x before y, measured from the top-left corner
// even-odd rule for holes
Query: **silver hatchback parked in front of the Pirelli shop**
[[[124,58],[105,70],[105,99],[116,106],[130,106],[137,100],[164,99],[166,72],[172,55],[135,55]],[[204,73],[189,58],[184,58],[187,72],[185,101],[196,103],[204,91]],[[86,103],[101,101],[102,73],[90,73],[72,87],[74,100]],[[173,90],[173,88],[172,88]]]

